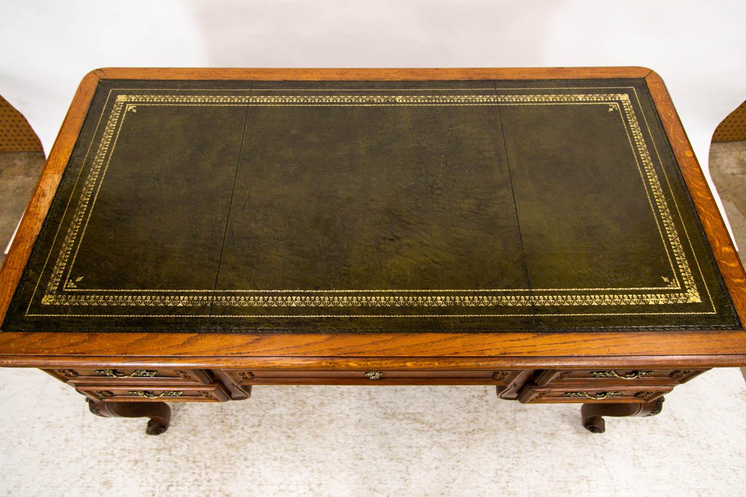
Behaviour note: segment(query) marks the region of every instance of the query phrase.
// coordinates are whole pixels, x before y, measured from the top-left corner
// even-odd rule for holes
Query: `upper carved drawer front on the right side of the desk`
[[[706,370],[609,368],[597,370],[546,370],[536,378],[540,385],[570,384],[680,384]]]

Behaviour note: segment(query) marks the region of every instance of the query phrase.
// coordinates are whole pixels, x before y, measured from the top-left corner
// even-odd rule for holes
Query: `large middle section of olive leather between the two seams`
[[[249,112],[217,288],[527,288],[492,109],[308,111]]]

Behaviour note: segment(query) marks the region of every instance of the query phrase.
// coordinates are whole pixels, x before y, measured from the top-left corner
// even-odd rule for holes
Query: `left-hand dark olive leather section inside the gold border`
[[[245,112],[136,111],[122,124],[103,179],[116,188],[98,191],[69,279],[79,273],[79,288],[211,288]],[[210,128],[220,140],[205,136]]]

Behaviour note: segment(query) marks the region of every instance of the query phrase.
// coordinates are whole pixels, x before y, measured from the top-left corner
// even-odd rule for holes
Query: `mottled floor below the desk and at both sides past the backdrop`
[[[727,208],[746,213],[743,145],[712,153]],[[0,167],[4,245],[40,160]],[[172,404],[172,428],[148,437],[143,420],[95,417],[40,371],[0,369],[0,496],[744,496],[740,380],[713,370],[659,416],[609,418],[603,435],[583,429],[579,405],[501,401],[492,387],[261,386],[242,402]]]

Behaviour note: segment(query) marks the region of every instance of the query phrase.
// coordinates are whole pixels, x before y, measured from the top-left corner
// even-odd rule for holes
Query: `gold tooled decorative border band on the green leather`
[[[122,109],[134,110],[135,104],[238,104],[238,105],[496,105],[496,104],[539,104],[539,103],[573,103],[586,102],[595,104],[621,103],[627,115],[627,123],[637,152],[642,160],[645,174],[650,183],[653,198],[656,201],[661,221],[671,244],[677,266],[683,279],[681,293],[648,293],[648,294],[580,294],[580,295],[314,295],[314,296],[284,296],[284,295],[250,295],[250,296],[199,296],[199,295],[84,295],[84,294],[56,294],[63,281],[63,274],[75,245],[75,239],[81,226],[85,227],[84,215],[87,212],[91,197],[98,182],[98,175],[104,166],[104,159],[109,154],[109,146],[113,149],[119,130],[116,124]],[[620,113],[621,114],[621,113]],[[122,118],[123,120],[123,118]],[[121,129],[121,128],[120,128]],[[625,127],[626,129],[626,127]],[[116,130],[116,133],[115,133]],[[112,143],[113,142],[113,143]],[[631,144],[630,144],[631,145]],[[637,160],[637,154],[634,154]],[[105,168],[104,168],[105,170]],[[98,185],[100,188],[100,184]],[[645,189],[647,193],[647,188]],[[98,189],[95,190],[96,194]],[[95,203],[95,196],[93,196]],[[91,207],[93,207],[91,203]],[[653,215],[655,214],[653,210]],[[90,213],[89,213],[90,215]],[[657,222],[657,218],[656,218]],[[81,236],[82,238],[82,236]],[[668,254],[668,250],[666,250]],[[73,256],[72,263],[75,261]],[[72,267],[71,263],[71,267]],[[675,276],[674,271],[674,276]],[[41,275],[40,275],[41,276]],[[67,285],[66,285],[67,286]],[[72,285],[71,285],[72,286]],[[680,288],[677,282],[671,287]],[[661,288],[669,289],[668,288]],[[73,288],[65,288],[72,290]],[[586,289],[587,290],[587,289]],[[598,289],[607,290],[607,289]],[[632,290],[632,289],[630,289]],[[486,290],[489,291],[489,290]],[[527,291],[506,290],[496,291]],[[533,290],[536,292],[537,290]],[[538,290],[541,291],[541,290]],[[555,289],[553,291],[563,291]],[[192,291],[189,291],[192,292]],[[210,290],[194,292],[212,292]],[[301,292],[301,291],[298,291]],[[370,291],[360,291],[360,293]],[[396,290],[386,291],[390,293]],[[439,291],[434,291],[439,292]],[[448,291],[443,291],[448,292]],[[423,292],[424,293],[424,292]],[[84,183],[83,191],[72,217],[70,227],[60,249],[60,254],[52,270],[46,294],[42,303],[46,305],[82,305],[82,306],[204,306],[215,303],[219,306],[290,306],[290,307],[349,307],[349,306],[625,306],[625,305],[661,305],[671,303],[701,302],[695,280],[689,269],[683,246],[674,227],[671,212],[662,194],[662,189],[653,168],[650,153],[642,137],[639,123],[634,113],[629,95],[624,93],[592,93],[592,94],[559,94],[559,95],[118,95],[110,113],[110,118],[104,127],[104,133],[99,142],[98,151],[93,159],[93,166]],[[35,314],[28,314],[35,315]],[[480,314],[482,315],[482,314]],[[501,314],[504,315],[504,314]]]

